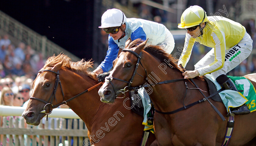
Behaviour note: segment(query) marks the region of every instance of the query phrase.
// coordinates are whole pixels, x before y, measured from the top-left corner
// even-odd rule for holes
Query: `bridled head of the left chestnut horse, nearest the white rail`
[[[40,120],[52,112],[54,105],[62,102],[62,87],[59,84],[59,70],[63,61],[54,67],[42,68],[33,82],[33,92],[22,116],[27,124],[38,125]],[[60,86],[59,88],[57,88]],[[59,91],[59,92],[57,92]],[[58,101],[58,102],[57,102]]]

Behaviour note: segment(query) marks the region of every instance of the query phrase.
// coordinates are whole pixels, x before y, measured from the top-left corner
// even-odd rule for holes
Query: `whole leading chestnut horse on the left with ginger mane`
[[[96,74],[88,71],[91,66],[91,61],[72,62],[64,54],[48,58],[33,82],[32,97],[22,114],[26,123],[38,125],[53,108],[66,103],[84,121],[94,146],[139,146],[144,129],[143,117],[126,109],[124,99],[118,99],[113,105],[102,103],[98,86],[70,100],[99,84]],[[61,83],[57,82],[58,78]],[[129,105],[130,100],[126,104]],[[148,145],[155,140],[154,134],[149,135]]]

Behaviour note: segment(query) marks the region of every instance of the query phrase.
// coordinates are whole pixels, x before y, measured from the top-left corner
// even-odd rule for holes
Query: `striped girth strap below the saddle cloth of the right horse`
[[[229,116],[229,121],[228,121],[228,124],[227,124],[226,134],[225,134],[225,137],[224,137],[224,140],[223,140],[221,146],[227,146],[229,144],[229,140],[231,138],[233,128],[234,128],[234,122],[235,122],[235,117],[234,116]]]

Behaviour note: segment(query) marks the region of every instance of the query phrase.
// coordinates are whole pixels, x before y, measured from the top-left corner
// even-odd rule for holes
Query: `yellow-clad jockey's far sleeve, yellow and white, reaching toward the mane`
[[[187,62],[190,59],[194,43],[195,43],[195,39],[192,38],[188,33],[186,33],[183,51],[182,51],[182,53],[180,55],[180,59],[178,61],[178,65],[181,64],[183,66],[183,68],[186,67]]]

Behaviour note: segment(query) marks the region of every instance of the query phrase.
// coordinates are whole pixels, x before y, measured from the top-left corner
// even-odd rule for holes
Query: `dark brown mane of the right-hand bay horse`
[[[138,45],[138,44],[140,44],[142,42],[144,42],[144,41],[141,40],[141,39],[133,40],[129,44],[129,48],[133,48],[133,47],[135,47],[136,45]],[[185,71],[184,68],[180,68],[180,66],[177,64],[178,59],[175,59],[174,57],[172,57],[171,54],[166,53],[162,49],[162,46],[146,45],[143,50],[148,52],[149,54],[151,54],[152,56],[154,56],[155,58],[157,58],[159,61],[161,61],[163,63],[166,63],[168,61],[170,66],[172,66],[173,68],[178,69],[180,72],[184,72]]]

